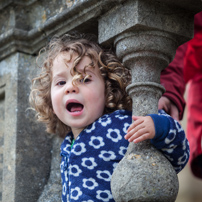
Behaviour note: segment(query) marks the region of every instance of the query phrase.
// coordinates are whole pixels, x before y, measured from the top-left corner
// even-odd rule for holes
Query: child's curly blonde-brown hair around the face
[[[102,49],[93,40],[80,35],[55,36],[47,47],[39,53],[38,59],[41,56],[45,56],[45,58],[41,65],[40,75],[32,80],[29,97],[31,107],[37,112],[37,120],[45,123],[48,133],[57,133],[64,137],[70,131],[70,127],[62,123],[53,113],[51,102],[52,66],[54,59],[61,52],[68,52],[70,60],[72,55],[76,53],[77,57],[74,59],[72,74],[76,75],[77,79],[78,75],[82,77],[82,74],[77,71],[76,67],[84,56],[91,59],[92,63],[89,64],[91,67],[99,67],[105,81],[106,104],[104,114],[118,109],[131,110],[132,101],[125,91],[126,86],[131,81],[130,71],[121,64],[113,53]]]

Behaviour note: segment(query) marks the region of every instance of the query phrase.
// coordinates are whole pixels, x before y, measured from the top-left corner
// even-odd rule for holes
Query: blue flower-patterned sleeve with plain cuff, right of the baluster
[[[181,125],[163,110],[150,114],[155,125],[155,137],[151,140],[179,173],[189,160],[189,142]]]

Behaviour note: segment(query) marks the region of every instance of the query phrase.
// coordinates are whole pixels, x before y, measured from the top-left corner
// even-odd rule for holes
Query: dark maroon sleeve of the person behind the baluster
[[[185,108],[184,91],[185,81],[183,78],[184,55],[187,43],[178,47],[174,60],[161,72],[161,85],[166,89],[163,96],[171,100],[179,110],[180,120]]]

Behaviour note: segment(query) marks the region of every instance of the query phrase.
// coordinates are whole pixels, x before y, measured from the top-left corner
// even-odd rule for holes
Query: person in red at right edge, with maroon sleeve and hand
[[[177,120],[183,117],[183,95],[187,83],[190,166],[192,173],[202,178],[202,12],[194,18],[194,38],[177,49],[174,60],[161,75],[161,84],[166,88],[166,92],[159,100],[158,107]]]

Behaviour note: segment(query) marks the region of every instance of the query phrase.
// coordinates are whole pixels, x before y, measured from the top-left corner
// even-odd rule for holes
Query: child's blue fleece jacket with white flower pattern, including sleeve
[[[178,173],[189,159],[189,144],[180,124],[163,110],[150,114],[155,125],[151,143],[160,150]],[[132,113],[117,110],[84,129],[71,147],[69,133],[61,145],[63,202],[114,202],[110,180],[114,168],[126,153],[124,139]]]

